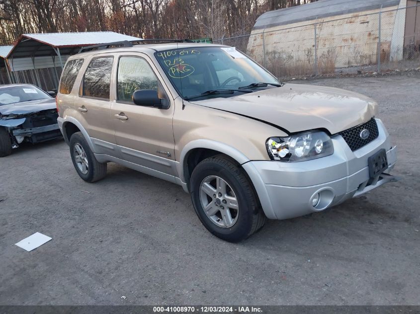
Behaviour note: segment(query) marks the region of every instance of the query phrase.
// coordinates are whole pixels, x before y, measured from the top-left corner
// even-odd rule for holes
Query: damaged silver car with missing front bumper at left
[[[62,137],[55,98],[31,84],[0,85],[0,157],[22,142]]]

